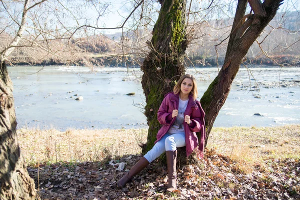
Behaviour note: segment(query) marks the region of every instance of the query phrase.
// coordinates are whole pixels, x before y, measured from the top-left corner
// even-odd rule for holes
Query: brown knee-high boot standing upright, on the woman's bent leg
[[[173,191],[177,188],[176,179],[176,155],[177,150],[166,150],[166,165],[168,173],[168,185],[166,191]]]

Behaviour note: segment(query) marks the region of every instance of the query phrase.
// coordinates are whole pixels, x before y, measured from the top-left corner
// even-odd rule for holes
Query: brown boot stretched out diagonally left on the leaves
[[[142,156],[132,168],[116,182],[118,188],[122,188],[125,184],[137,173],[139,173],[143,168],[149,164],[148,160]]]

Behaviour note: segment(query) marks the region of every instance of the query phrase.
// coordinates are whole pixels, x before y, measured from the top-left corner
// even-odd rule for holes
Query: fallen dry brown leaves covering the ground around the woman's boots
[[[42,199],[299,199],[299,159],[267,159],[243,173],[228,156],[206,150],[198,165],[177,169],[178,189],[166,193],[166,167],[150,163],[125,188],[116,181],[126,173],[116,170],[121,162],[130,168],[141,155],[124,155],[118,160],[55,163],[27,167]],[[119,167],[121,168],[121,167]]]

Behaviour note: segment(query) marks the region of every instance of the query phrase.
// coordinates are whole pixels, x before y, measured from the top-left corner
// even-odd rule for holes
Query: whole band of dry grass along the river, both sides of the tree
[[[30,165],[99,161],[107,156],[140,153],[138,141],[146,141],[146,132],[146,129],[17,130],[19,145]],[[267,167],[264,160],[269,158],[299,158],[300,125],[213,128],[207,147],[230,156],[240,163],[241,170],[249,172],[255,165]]]

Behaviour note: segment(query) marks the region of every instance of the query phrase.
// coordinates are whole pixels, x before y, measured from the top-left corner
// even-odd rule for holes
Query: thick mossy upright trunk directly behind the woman
[[[157,120],[160,103],[175,81],[184,74],[183,56],[187,46],[185,23],[186,0],[163,0],[153,27],[150,52],[141,65],[141,85],[146,97],[145,115],[149,125],[143,153],[154,145],[161,125]]]

